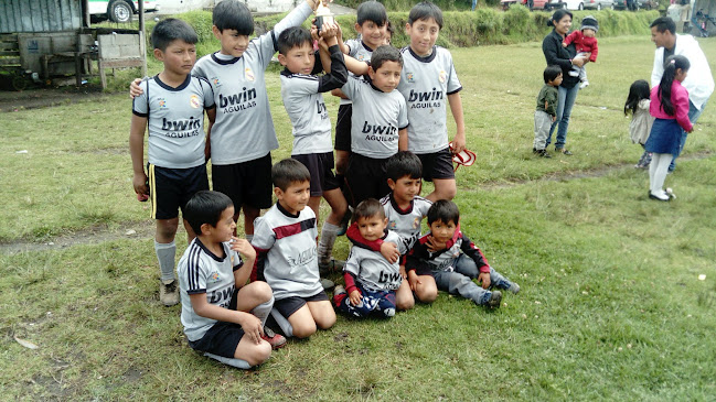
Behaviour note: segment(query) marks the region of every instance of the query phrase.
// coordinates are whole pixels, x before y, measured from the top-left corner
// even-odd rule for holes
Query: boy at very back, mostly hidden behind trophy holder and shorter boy
[[[388,13],[383,3],[375,0],[362,2],[356,10],[355,32],[359,37],[343,42],[339,30],[341,51],[359,62],[370,62],[373,51],[384,44],[387,22]],[[335,122],[335,171],[341,180],[351,154],[352,102],[341,89],[334,89],[331,94],[341,98]]]

